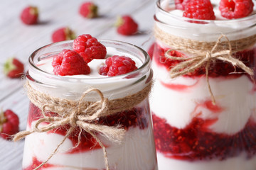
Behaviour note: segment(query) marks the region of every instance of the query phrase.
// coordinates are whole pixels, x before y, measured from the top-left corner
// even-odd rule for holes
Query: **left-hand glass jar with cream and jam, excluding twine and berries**
[[[33,52],[29,58],[26,76],[28,80],[27,88],[32,89],[32,94],[33,91],[37,91],[42,95],[48,95],[60,100],[66,99],[70,102],[81,100],[83,92],[87,91],[87,89],[97,88],[104,98],[107,98],[111,103],[120,98],[122,101],[127,99],[128,96],[138,95],[150,87],[152,71],[150,69],[149,56],[144,50],[125,42],[112,40],[100,40],[100,42],[107,47],[107,56],[125,55],[132,57],[139,65],[138,69],[116,77],[95,76],[98,74],[97,69],[101,64],[105,63],[105,60],[95,60],[95,62],[92,60],[89,63],[91,68],[91,74],[89,75],[56,76],[46,71],[49,70],[49,63],[51,63],[52,57],[63,49],[71,50],[73,45],[73,41],[57,42],[41,47]],[[31,99],[29,93],[28,97]],[[99,94],[91,92],[82,101],[93,103],[98,100],[100,100]],[[37,123],[36,121],[43,118],[42,110],[44,108],[38,107],[40,103],[43,103],[43,100],[38,100],[34,97],[31,100],[28,113],[28,131],[33,130]],[[126,110],[121,108],[124,111],[118,111],[111,115],[100,115],[93,121],[85,121],[86,123],[91,123],[90,125],[99,125],[101,128],[112,127],[124,130],[124,136],[120,143],[112,142],[105,134],[102,135],[103,130],[95,131],[92,128],[89,132],[80,131],[80,126],[66,136],[70,127],[73,128],[71,124],[60,125],[58,128],[47,132],[33,132],[26,136],[23,169],[35,169],[43,162],[45,163],[40,169],[48,170],[107,169],[105,162],[109,165],[109,169],[157,169],[148,96],[144,96],[139,103],[128,102],[126,104],[131,107]],[[49,105],[46,102],[46,106]],[[63,103],[55,102],[55,107],[62,105]],[[118,106],[115,107],[118,108]],[[65,109],[70,108],[68,106],[65,108],[64,106],[63,111]],[[99,109],[97,108],[96,111]],[[57,113],[50,112],[47,107],[44,115],[50,118],[65,117],[65,115],[60,116]],[[38,128],[51,124],[42,120]],[[103,146],[100,145],[99,141]],[[58,145],[60,146],[58,147]],[[102,147],[105,147],[105,150]],[[58,151],[53,153],[56,148],[58,148]],[[104,154],[105,151],[106,153]]]

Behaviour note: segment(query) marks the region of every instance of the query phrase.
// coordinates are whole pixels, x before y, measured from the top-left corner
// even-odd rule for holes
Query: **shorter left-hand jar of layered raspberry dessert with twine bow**
[[[147,96],[152,78],[149,56],[141,48],[125,42],[99,42],[105,46],[107,55],[87,60],[85,74],[80,74],[78,63],[70,75],[66,69],[74,67],[72,64],[53,68],[56,64],[53,60],[58,62],[63,54],[70,58],[78,55],[78,52],[70,53],[73,41],[46,45],[29,58],[26,89],[31,103],[23,170],[157,169]],[[80,53],[80,58],[82,55],[85,54]],[[130,64],[136,67],[132,72],[119,74],[122,71],[119,69],[115,76],[105,75],[102,73],[105,61],[114,55],[129,57],[133,61]],[[93,90],[84,95],[88,89]],[[63,113],[56,113],[57,108]],[[72,119],[73,114],[76,115]],[[24,134],[16,135],[14,140],[21,137]]]

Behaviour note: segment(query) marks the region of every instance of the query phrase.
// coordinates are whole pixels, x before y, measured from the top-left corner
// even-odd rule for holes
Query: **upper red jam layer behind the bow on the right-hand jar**
[[[166,51],[169,50],[168,48],[162,48],[160,45],[156,43],[154,47],[154,61],[156,64],[159,64],[161,66],[166,67],[167,70],[170,70],[172,67],[176,66],[176,64],[182,62],[179,60],[171,60],[169,58],[166,58],[164,54]],[[171,51],[169,55],[172,55],[174,57],[186,57],[181,52],[178,51]],[[256,48],[253,50],[244,50],[242,52],[236,52],[235,58],[242,61],[247,67],[255,68],[256,67]],[[234,74],[236,72],[237,74]],[[200,77],[202,75],[206,74],[205,67],[201,67],[196,69],[194,72],[188,73],[186,75],[183,75],[184,77]],[[217,60],[216,62],[211,62],[210,69],[208,72],[209,77],[228,77],[230,75],[235,75],[236,77],[240,77],[241,75],[246,74],[242,69],[238,67],[233,67],[232,64],[228,62],[223,62],[220,60]],[[256,79],[256,77],[255,77]]]

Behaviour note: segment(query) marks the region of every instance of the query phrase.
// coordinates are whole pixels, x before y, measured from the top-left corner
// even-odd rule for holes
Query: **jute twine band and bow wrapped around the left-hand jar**
[[[30,135],[33,132],[48,132],[55,128],[60,128],[63,125],[70,125],[70,129],[67,130],[65,137],[58,147],[55,148],[46,161],[36,168],[39,169],[43,164],[46,164],[51,157],[53,157],[53,155],[58,151],[60,145],[63,144],[70,134],[76,128],[80,128],[80,135],[82,130],[85,130],[85,132],[90,133],[90,135],[92,135],[92,137],[94,137],[102,147],[105,158],[105,167],[109,170],[110,166],[107,160],[107,151],[96,133],[100,133],[111,142],[121,143],[125,131],[121,126],[110,127],[107,125],[95,124],[93,121],[103,116],[112,115],[120,111],[127,111],[134,108],[134,106],[137,106],[137,104],[141,103],[147,96],[149,96],[151,84],[152,83],[150,82],[144,89],[142,89],[142,91],[139,91],[136,94],[113,100],[105,98],[102,92],[98,89],[88,89],[82,94],[79,100],[71,101],[63,98],[55,98],[49,94],[37,91],[36,89],[33,89],[27,81],[25,88],[28,98],[35,106],[41,108],[43,118],[37,120],[31,130],[18,132],[14,136],[13,140],[21,140],[26,137],[26,135]],[[86,101],[86,96],[93,92],[100,96],[100,101]],[[58,113],[58,116],[52,117],[50,115],[46,115],[46,111]],[[48,124],[40,125],[41,123]],[[80,143],[80,135],[78,136],[78,144],[75,147]]]

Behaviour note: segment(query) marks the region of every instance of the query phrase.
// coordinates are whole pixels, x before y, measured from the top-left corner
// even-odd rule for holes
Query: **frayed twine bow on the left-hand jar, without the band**
[[[29,84],[27,84],[27,86],[31,88]],[[83,102],[85,96],[87,96],[87,94],[90,94],[92,91],[95,91],[100,96],[101,98],[100,101],[96,101],[93,103]],[[33,103],[33,99],[32,99],[32,103]],[[84,105],[87,105],[87,107],[81,110],[82,106]],[[90,135],[92,135],[92,137],[94,137],[95,140],[97,140],[100,147],[102,147],[104,152],[104,158],[105,158],[105,166],[107,170],[109,170],[110,166],[107,160],[106,148],[100,141],[99,137],[95,135],[95,133],[99,132],[100,134],[107,137],[107,139],[110,140],[111,142],[120,143],[122,141],[122,138],[124,137],[124,129],[122,129],[119,126],[110,127],[107,125],[97,125],[92,123],[93,120],[100,118],[103,115],[103,113],[107,112],[108,106],[109,106],[108,98],[104,98],[102,92],[98,89],[88,89],[87,91],[85,91],[85,93],[82,94],[82,96],[80,97],[78,106],[76,108],[71,109],[71,113],[62,114],[62,116],[60,117],[51,117],[46,115],[45,114],[46,110],[48,110],[48,108],[54,108],[55,106],[52,106],[51,104],[45,104],[41,109],[43,118],[40,118],[39,120],[36,121],[36,124],[34,125],[32,130],[18,132],[14,136],[13,140],[14,141],[21,140],[23,137],[26,137],[26,135],[30,135],[33,132],[48,132],[49,130],[60,128],[63,125],[70,125],[70,128],[68,129],[68,132],[66,133],[65,137],[59,143],[59,145],[55,148],[53,153],[50,154],[50,157],[48,157],[48,159],[44,161],[41,165],[36,167],[36,169],[39,169],[41,166],[46,164],[46,162],[48,162],[48,160],[51,157],[53,157],[53,155],[58,151],[58,148],[60,147],[60,145],[62,145],[63,142],[65,142],[65,140],[71,135],[71,133],[75,130],[75,128],[80,128],[78,144],[75,147],[77,147],[80,144],[80,135],[82,130],[85,130],[85,132],[90,133]],[[41,125],[41,123],[49,123],[49,124]]]

